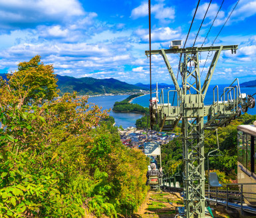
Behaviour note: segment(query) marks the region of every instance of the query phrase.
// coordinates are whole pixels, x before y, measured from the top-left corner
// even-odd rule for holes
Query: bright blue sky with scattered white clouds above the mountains
[[[213,0],[195,46],[201,46],[222,0]],[[210,46],[237,0],[225,0],[205,46]],[[209,1],[201,1],[187,46],[192,46]],[[152,49],[185,40],[197,1],[152,0]],[[256,80],[256,0],[240,0],[215,41],[238,44],[222,52],[212,83]],[[149,83],[148,1],[0,0],[0,72],[39,54],[55,73]],[[207,52],[201,54],[201,68]],[[212,56],[211,56],[212,57]],[[177,72],[178,55],[170,55]],[[211,58],[209,58],[211,59]],[[209,67],[209,60],[205,68]],[[206,72],[204,70],[203,72]],[[204,73],[205,74],[205,73]],[[172,83],[162,56],[152,57],[152,82]]]

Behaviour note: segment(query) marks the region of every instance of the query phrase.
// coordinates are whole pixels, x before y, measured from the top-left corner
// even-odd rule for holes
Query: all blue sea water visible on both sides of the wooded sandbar
[[[207,95],[205,98],[205,105],[210,105],[213,102],[213,87],[215,85],[209,85],[209,89],[207,91]],[[223,88],[227,85],[219,85],[219,95],[223,93]],[[241,87],[241,93],[247,93],[253,95],[256,92],[256,87]],[[126,99],[129,95],[112,95],[112,96],[99,96],[99,97],[90,97],[88,101],[90,103],[95,103],[102,107],[102,109],[112,109],[114,103],[116,101],[122,101]],[[153,93],[152,97],[155,97],[156,94]],[[170,103],[172,103],[173,92],[170,93]],[[177,96],[177,95],[176,95]],[[160,95],[159,95],[160,97]],[[256,98],[256,95],[254,96]],[[137,97],[132,101],[132,103],[138,103],[143,107],[148,107],[149,105],[150,95],[142,95]],[[168,90],[164,90],[164,103],[168,102]],[[248,109],[247,113],[251,115],[256,115],[256,107],[253,109]],[[135,127],[136,120],[141,118],[142,115],[137,113],[116,113],[110,111],[110,116],[114,117],[116,121],[116,125],[127,128],[127,127]]]

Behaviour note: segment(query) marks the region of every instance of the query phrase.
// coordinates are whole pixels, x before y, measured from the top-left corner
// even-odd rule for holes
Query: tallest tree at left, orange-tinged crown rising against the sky
[[[7,76],[9,88],[19,98],[19,105],[41,103],[57,97],[57,78],[53,65],[41,63],[39,55],[18,64],[18,71]]]

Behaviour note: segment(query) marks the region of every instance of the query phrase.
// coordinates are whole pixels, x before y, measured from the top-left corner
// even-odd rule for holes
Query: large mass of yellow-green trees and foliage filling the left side
[[[146,157],[122,145],[108,111],[58,97],[35,56],[0,78],[1,217],[118,217],[146,196]],[[58,97],[58,98],[57,98]]]

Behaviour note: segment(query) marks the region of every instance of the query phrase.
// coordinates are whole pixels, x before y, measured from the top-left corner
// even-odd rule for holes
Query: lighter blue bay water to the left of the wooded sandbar
[[[112,109],[116,101],[122,101],[128,96],[130,95],[106,95],[89,97],[88,102],[99,105],[103,110]],[[136,120],[142,117],[142,115],[138,113],[119,113],[112,110],[110,111],[110,116],[114,117],[118,127],[122,126],[124,129],[127,127],[135,127]]]

